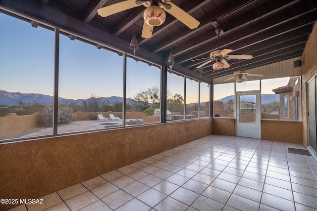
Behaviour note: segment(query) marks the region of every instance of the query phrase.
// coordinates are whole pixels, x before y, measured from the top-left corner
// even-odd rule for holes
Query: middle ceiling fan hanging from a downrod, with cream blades
[[[200,59],[194,59],[192,61],[197,61],[197,60],[201,60],[201,59],[208,59],[206,62],[204,62],[203,64],[197,66],[197,69],[200,69],[202,67],[204,67],[205,65],[211,63],[212,61],[215,61],[215,63],[212,65],[213,71],[214,70],[221,70],[223,68],[228,68],[230,67],[230,65],[228,64],[228,62],[225,59],[252,59],[252,55],[227,55],[228,53],[230,53],[231,49],[223,49],[223,50],[219,50],[219,35],[221,33],[221,29],[216,29],[215,32],[218,36],[218,50],[214,50],[210,53],[210,57],[208,58],[200,58]]]

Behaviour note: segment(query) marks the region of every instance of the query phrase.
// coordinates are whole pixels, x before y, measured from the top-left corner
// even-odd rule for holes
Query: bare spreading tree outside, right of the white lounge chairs
[[[159,108],[160,104],[160,89],[158,86],[152,86],[133,97],[132,105],[135,106],[137,111],[144,111],[149,107]]]

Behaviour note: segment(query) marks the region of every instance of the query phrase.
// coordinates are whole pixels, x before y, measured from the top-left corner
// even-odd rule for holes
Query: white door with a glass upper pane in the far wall
[[[236,92],[237,136],[261,138],[260,91]]]

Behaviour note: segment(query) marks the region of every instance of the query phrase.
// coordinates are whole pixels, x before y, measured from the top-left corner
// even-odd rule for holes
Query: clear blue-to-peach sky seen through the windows
[[[53,96],[53,29],[35,28],[29,22],[0,13],[0,38],[0,89]],[[65,35],[60,35],[59,56],[59,97],[123,96],[123,56],[70,40]],[[286,85],[287,81],[288,78],[276,81],[274,87]],[[198,83],[189,79],[187,82],[186,102],[198,102]],[[168,74],[167,89],[172,95],[177,93],[184,97],[183,84],[184,77]],[[263,92],[269,93],[270,90],[272,93],[270,83],[264,84]],[[243,85],[245,88],[246,84]],[[136,93],[152,86],[160,86],[159,67],[128,57],[126,96],[133,98]],[[201,102],[209,101],[207,86],[205,83],[201,86]],[[230,84],[216,85],[214,99],[234,94],[233,87]]]

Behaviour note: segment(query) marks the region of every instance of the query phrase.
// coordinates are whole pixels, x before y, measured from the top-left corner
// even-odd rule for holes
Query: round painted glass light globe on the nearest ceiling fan
[[[164,23],[166,19],[166,13],[161,7],[152,5],[144,10],[143,18],[144,21],[150,26],[159,26]]]

